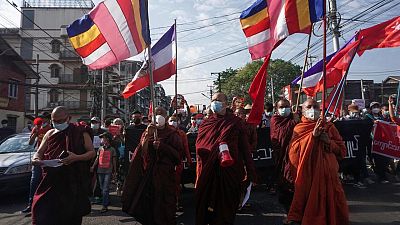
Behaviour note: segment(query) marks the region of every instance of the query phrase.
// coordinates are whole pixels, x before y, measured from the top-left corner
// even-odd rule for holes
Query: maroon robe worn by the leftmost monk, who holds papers
[[[83,133],[87,126],[70,124],[67,129],[47,138],[44,160],[57,159],[62,151],[86,153]],[[44,167],[42,181],[32,204],[33,225],[74,225],[90,213],[88,198],[89,162],[75,162],[56,168]]]

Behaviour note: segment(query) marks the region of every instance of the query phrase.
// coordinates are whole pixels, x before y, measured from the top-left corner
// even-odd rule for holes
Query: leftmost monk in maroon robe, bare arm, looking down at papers
[[[33,197],[33,225],[77,225],[90,213],[89,163],[95,157],[91,130],[70,119],[65,107],[55,108],[51,113],[54,129],[46,133],[33,156],[32,164],[43,167]],[[45,160],[54,160],[55,165],[46,166]]]

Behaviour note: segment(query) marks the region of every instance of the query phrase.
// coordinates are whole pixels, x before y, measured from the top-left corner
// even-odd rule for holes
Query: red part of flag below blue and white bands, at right
[[[340,50],[326,65],[326,88],[331,88],[337,85],[347,73],[350,64],[356,55],[360,40],[348,44],[345,48]],[[319,80],[318,84],[312,88],[307,89],[307,95],[315,96],[318,92],[323,90],[323,77]]]

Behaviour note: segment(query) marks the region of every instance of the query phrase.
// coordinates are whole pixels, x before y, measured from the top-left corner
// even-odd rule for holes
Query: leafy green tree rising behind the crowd
[[[260,69],[263,61],[253,61],[247,63],[244,67],[238,69],[229,68],[221,73],[221,88],[228,99],[231,100],[235,96],[245,98],[246,103],[251,103],[248,90],[254,76]],[[271,78],[274,81],[274,97],[278,99],[282,94],[282,89],[290,84],[292,80],[301,73],[301,67],[294,65],[281,59],[271,60],[268,67],[268,80],[266,90],[266,100],[272,101]],[[214,82],[218,87],[218,80]]]

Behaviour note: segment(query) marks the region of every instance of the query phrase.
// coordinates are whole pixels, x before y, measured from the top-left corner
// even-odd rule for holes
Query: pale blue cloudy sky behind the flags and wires
[[[11,0],[10,0],[11,1]],[[13,0],[21,6],[21,0]],[[79,1],[79,0],[76,0]],[[168,30],[177,19],[178,42],[178,93],[183,94],[189,104],[209,104],[209,90],[216,75],[227,68],[240,68],[251,62],[250,54],[245,49],[246,39],[241,30],[240,12],[255,0],[150,0],[149,15],[153,43]],[[94,0],[95,4],[100,0]],[[382,8],[362,17],[354,16],[363,13],[377,3],[377,0],[337,0],[338,12],[341,14],[342,37],[340,45],[349,40],[354,33],[366,27],[399,16],[400,0],[386,0]],[[0,0],[0,15],[9,18],[7,22],[0,16],[0,27],[12,27],[20,24],[20,15],[6,0]],[[353,19],[353,20],[351,20]],[[72,21],[71,21],[72,22]],[[40,24],[39,24],[40,25]],[[316,35],[321,35],[319,24]],[[272,58],[291,60],[303,65],[307,46],[307,35],[294,34],[287,38],[274,52]],[[328,41],[331,40],[329,37]],[[319,37],[314,36],[311,43],[322,44]],[[241,50],[241,51],[240,51]],[[328,53],[333,51],[331,42],[327,45]],[[229,53],[237,52],[226,57]],[[314,63],[322,57],[322,48],[311,49]],[[400,75],[400,48],[375,49],[367,51],[362,57],[356,56],[348,75],[348,79],[366,79],[381,82],[387,76]],[[204,64],[201,62],[219,58]],[[186,68],[189,67],[189,68]],[[186,68],[186,69],[181,69]],[[161,82],[167,95],[174,95],[174,79]],[[361,97],[361,96],[360,96]]]

